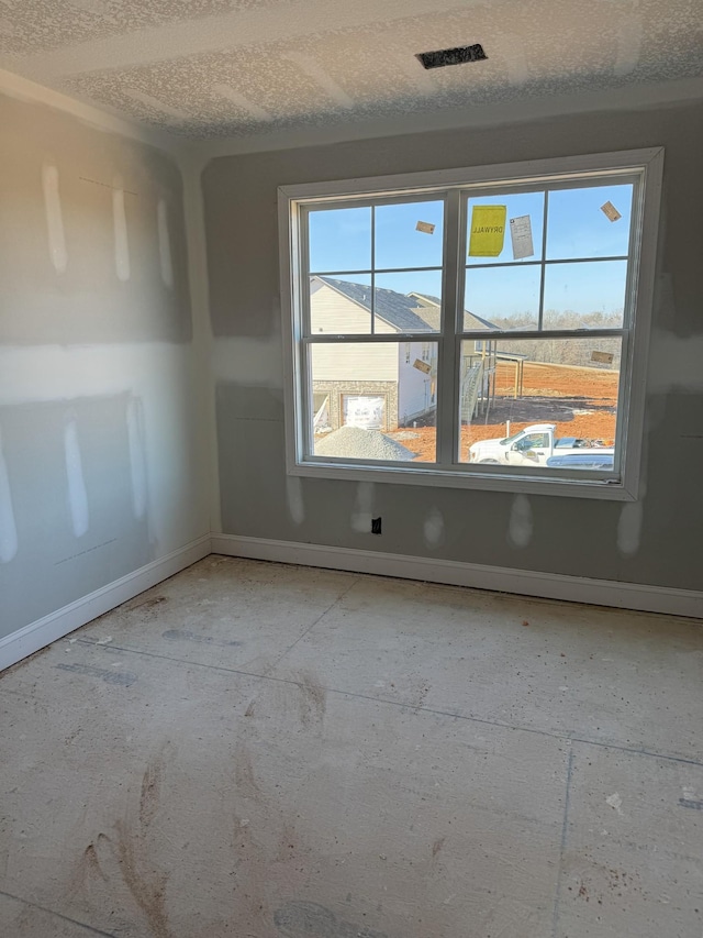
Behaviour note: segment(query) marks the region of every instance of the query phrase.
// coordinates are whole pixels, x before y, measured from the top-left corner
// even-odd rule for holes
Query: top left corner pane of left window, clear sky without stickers
[[[371,269],[370,207],[313,210],[308,229],[311,272]]]

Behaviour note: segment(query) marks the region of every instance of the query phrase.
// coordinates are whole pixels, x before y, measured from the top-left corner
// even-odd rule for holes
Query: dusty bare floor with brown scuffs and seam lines
[[[0,678],[3,938],[701,938],[703,627],[209,558]]]

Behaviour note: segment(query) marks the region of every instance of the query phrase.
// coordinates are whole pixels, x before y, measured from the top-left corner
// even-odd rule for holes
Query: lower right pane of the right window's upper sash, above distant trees
[[[618,329],[623,324],[627,261],[547,264],[545,329]]]

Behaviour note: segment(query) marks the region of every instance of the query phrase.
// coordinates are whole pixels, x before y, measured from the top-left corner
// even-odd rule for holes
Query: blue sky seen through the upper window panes
[[[611,222],[601,206],[611,201],[622,214]],[[478,264],[513,261],[510,231],[503,251],[495,258],[467,257],[465,307],[488,319],[536,317],[539,302],[544,195],[542,192],[492,194],[469,200],[468,222],[477,205],[504,205],[507,218],[529,216],[533,256],[517,261],[514,267],[481,267]],[[549,192],[547,217],[547,261],[571,257],[588,263],[548,265],[545,278],[545,310],[572,310],[579,313],[611,313],[623,308],[626,263],[598,258],[627,253],[632,211],[632,185],[607,185]],[[435,225],[433,234],[415,230],[419,221]],[[409,201],[376,209],[375,267],[442,266],[443,203]],[[468,239],[467,239],[468,242]],[[370,276],[349,275],[350,271],[370,271],[371,209],[311,211],[310,265],[315,273],[370,284]],[[410,293],[417,290],[439,296],[442,275],[435,271],[377,274],[377,287]]]

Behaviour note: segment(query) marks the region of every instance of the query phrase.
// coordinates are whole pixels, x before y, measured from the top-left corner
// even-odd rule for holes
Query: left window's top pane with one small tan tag
[[[378,206],[375,266],[440,267],[443,236],[442,201]]]

